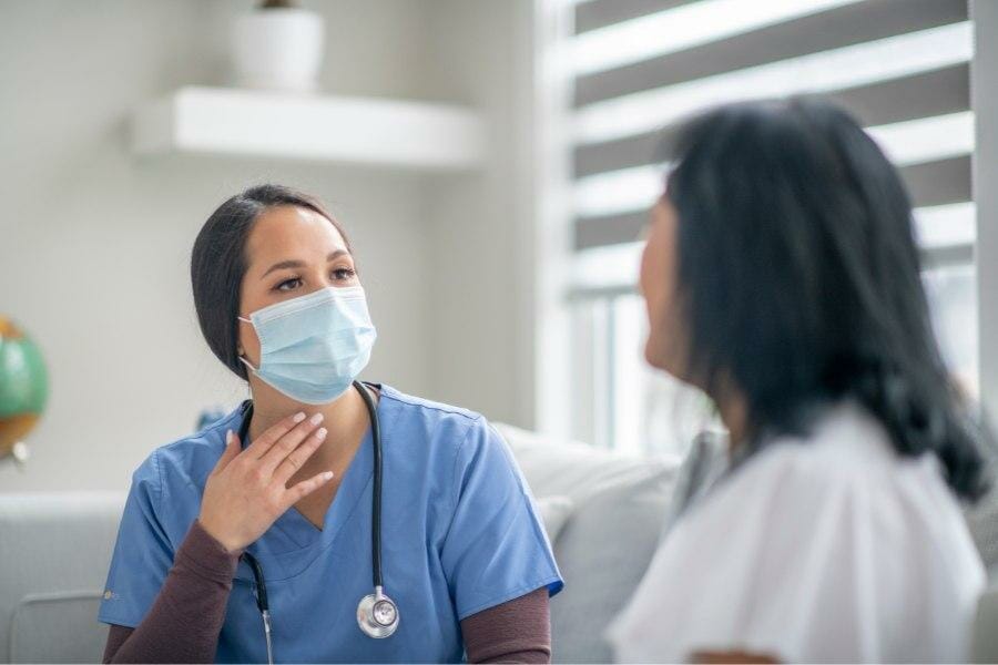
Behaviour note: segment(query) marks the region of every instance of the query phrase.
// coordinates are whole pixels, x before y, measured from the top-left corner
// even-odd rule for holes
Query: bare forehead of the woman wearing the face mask
[[[293,205],[265,209],[246,238],[251,266],[271,259],[325,257],[337,249],[347,249],[347,246],[333,223],[315,211]]]

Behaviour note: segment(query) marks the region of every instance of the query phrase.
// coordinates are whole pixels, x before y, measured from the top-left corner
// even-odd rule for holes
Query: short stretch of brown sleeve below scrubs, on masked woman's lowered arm
[[[461,632],[469,663],[550,663],[547,587],[472,614]]]

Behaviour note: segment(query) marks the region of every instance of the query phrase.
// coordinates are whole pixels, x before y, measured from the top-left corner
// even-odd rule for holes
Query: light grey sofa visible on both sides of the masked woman
[[[568,498],[554,541],[567,580],[551,606],[560,662],[605,662],[603,626],[656,545],[675,462],[619,459],[498,426],[538,498]],[[0,662],[100,662],[96,622],[124,493],[0,493]],[[546,522],[549,514],[546,512]]]

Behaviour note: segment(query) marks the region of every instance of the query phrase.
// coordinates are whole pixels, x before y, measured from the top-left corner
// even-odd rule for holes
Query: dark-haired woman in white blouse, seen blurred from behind
[[[610,631],[624,662],[959,662],[981,443],[933,335],[898,173],[813,100],[690,121],[641,266],[648,361],[706,391],[729,470]]]

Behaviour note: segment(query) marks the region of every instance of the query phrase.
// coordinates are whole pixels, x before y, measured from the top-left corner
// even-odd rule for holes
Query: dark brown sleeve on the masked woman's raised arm
[[[111,626],[104,663],[213,663],[237,563],[195,520],[142,623]]]

